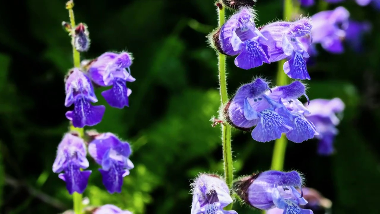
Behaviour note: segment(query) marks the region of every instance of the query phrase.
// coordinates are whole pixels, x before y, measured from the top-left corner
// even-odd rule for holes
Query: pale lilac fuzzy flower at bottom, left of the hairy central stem
[[[217,213],[237,214],[223,208],[232,203],[227,184],[217,175],[201,174],[193,182],[193,204],[191,214]]]

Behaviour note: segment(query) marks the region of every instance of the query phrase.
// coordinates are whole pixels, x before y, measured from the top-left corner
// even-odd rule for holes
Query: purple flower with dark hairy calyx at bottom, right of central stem
[[[250,206],[269,210],[279,208],[283,214],[312,214],[299,205],[307,204],[296,188],[301,188],[302,177],[296,171],[266,171],[244,177],[234,183],[234,190]]]

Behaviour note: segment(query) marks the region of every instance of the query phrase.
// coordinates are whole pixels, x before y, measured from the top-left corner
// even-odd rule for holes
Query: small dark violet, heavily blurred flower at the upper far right
[[[369,22],[358,22],[350,19],[346,29],[345,40],[352,46],[355,51],[362,49],[362,37],[365,33],[369,32],[372,26]]]

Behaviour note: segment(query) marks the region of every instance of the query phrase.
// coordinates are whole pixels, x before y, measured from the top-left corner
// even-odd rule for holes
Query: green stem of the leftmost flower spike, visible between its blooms
[[[81,55],[76,50],[74,46],[74,29],[75,29],[75,19],[74,19],[74,2],[73,0],[70,0],[66,3],[66,9],[69,11],[69,17],[70,17],[70,24],[71,24],[71,45],[73,46],[73,61],[74,61],[74,67],[81,67]],[[74,126],[70,126],[70,131],[77,131],[79,133],[79,137],[84,136],[84,129],[83,128],[75,128]],[[82,194],[79,194],[77,192],[73,193],[73,203],[74,203],[74,213],[75,214],[82,214],[83,205],[82,205]]]

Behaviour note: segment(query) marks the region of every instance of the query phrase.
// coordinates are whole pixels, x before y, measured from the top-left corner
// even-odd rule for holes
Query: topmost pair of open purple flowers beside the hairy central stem
[[[253,9],[241,8],[212,36],[221,53],[236,56],[235,65],[252,69],[286,59],[284,72],[290,78],[310,79],[304,57],[309,57],[312,24],[309,18],[294,22],[278,21],[255,26]]]

